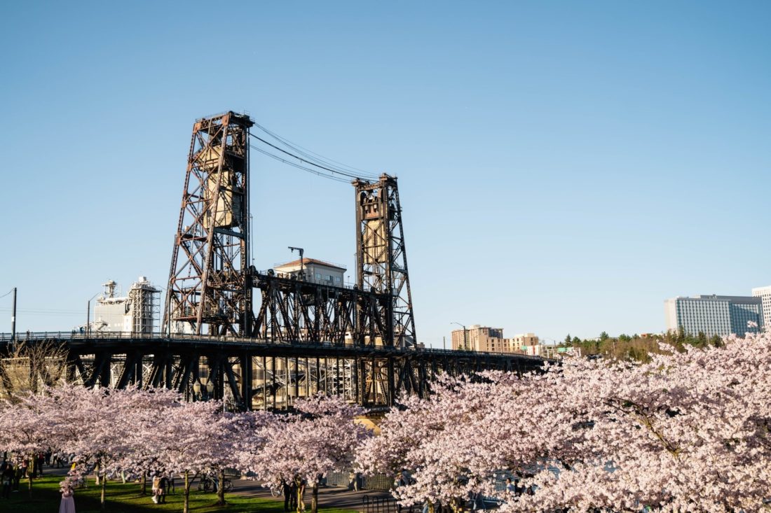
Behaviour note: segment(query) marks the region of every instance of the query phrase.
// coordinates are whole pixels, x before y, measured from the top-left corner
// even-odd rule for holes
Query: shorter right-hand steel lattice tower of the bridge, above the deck
[[[383,173],[376,182],[355,179],[356,283],[361,290],[389,294],[391,308],[381,307],[384,345],[416,344],[412,293],[402,230],[402,207],[396,177]]]

